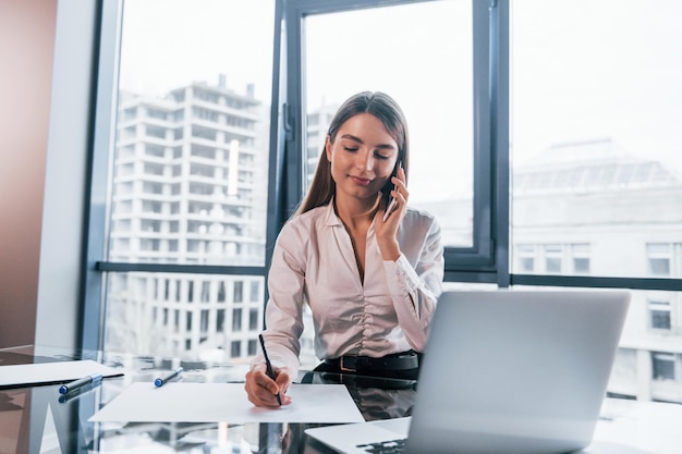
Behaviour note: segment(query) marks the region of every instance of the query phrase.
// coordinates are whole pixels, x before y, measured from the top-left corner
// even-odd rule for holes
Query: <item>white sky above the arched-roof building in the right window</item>
[[[682,2],[513,4],[515,151],[611,137],[634,156],[682,170]]]

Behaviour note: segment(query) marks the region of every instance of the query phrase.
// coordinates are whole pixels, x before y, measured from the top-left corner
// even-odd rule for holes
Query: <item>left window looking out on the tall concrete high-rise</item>
[[[101,347],[246,361],[260,326],[242,319],[263,317],[265,295],[275,2],[111,3]]]

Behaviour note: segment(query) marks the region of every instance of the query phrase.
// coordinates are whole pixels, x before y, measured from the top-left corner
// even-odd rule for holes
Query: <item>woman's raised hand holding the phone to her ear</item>
[[[381,206],[374,219],[377,243],[385,260],[398,260],[400,257],[398,229],[400,222],[405,217],[407,198],[410,197],[410,192],[407,186],[405,186],[405,171],[402,167],[398,167],[397,175],[391,177],[391,183],[394,187],[390,193],[390,199],[395,200],[395,204],[390,208],[388,216],[385,216],[387,207]],[[383,205],[383,203],[381,204]]]

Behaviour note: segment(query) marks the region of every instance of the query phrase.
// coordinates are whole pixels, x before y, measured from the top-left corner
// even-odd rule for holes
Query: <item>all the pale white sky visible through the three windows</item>
[[[611,138],[682,174],[682,1],[511,4],[514,162],[556,144]],[[163,95],[223,73],[238,93],[254,83],[269,105],[272,16],[271,0],[126,0],[121,87]],[[305,26],[309,109],[386,91],[410,124],[411,197],[471,188],[470,2],[309,16]]]

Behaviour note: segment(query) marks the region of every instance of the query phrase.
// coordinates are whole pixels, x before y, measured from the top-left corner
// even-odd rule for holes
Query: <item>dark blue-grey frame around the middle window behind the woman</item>
[[[282,102],[285,113],[287,140],[284,157],[288,174],[283,192],[288,216],[303,197],[306,187],[306,168],[303,150],[306,137],[305,120],[305,19],[309,15],[339,13],[358,9],[395,7],[437,0],[289,0],[285,23],[287,101]],[[509,204],[504,193],[499,192],[509,181],[507,176],[508,139],[504,122],[492,118],[492,112],[504,114],[506,90],[496,89],[497,81],[507,66],[491,59],[491,45],[504,38],[499,29],[499,13],[492,3],[470,0],[473,7],[473,81],[474,100],[474,191],[473,191],[473,245],[472,247],[446,247],[444,280],[463,282],[498,283],[507,286],[507,249]],[[498,48],[498,46],[495,46]],[[501,133],[501,135],[500,135]],[[452,150],[455,152],[455,150]],[[272,164],[272,161],[270,162]],[[502,196],[502,197],[500,197]],[[280,225],[281,226],[281,225]]]

